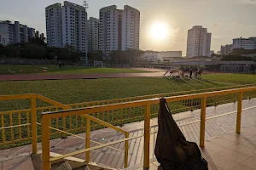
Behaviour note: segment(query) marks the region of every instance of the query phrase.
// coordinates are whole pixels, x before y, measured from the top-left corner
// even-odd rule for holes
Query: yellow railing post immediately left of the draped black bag
[[[144,115],[144,169],[149,169],[149,142],[150,142],[150,104],[146,106]]]

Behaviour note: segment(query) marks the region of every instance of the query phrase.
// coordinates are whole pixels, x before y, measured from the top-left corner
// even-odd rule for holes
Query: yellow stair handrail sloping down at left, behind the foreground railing
[[[52,99],[48,99],[44,96],[41,96],[39,94],[24,94],[24,95],[9,95],[9,96],[0,96],[0,100],[9,100],[9,99],[31,99],[31,110],[27,110],[27,111],[31,111],[31,117],[29,116],[29,112],[26,112],[26,123],[25,124],[21,124],[20,121],[20,115],[19,115],[19,125],[13,125],[13,116],[12,113],[10,113],[10,123],[8,127],[4,127],[4,119],[3,119],[3,114],[5,112],[2,112],[2,139],[3,139],[3,144],[9,144],[9,143],[13,143],[13,142],[19,142],[19,141],[23,141],[26,139],[31,139],[31,134],[30,132],[30,128],[29,126],[31,126],[32,129],[32,154],[36,154],[37,153],[37,139],[38,139],[38,132],[37,132],[37,125],[41,125],[41,123],[37,122],[37,103],[36,103],[36,99],[40,99],[44,102],[47,102],[51,105],[55,105],[55,107],[61,108],[61,109],[72,109],[70,106],[67,105],[62,105],[59,102],[56,102],[55,100]],[[20,113],[20,112],[19,112]],[[85,138],[85,143],[86,143],[86,148],[90,147],[90,141],[94,142],[96,144],[101,144],[98,143],[96,141],[92,141],[90,140],[90,122],[97,122],[105,127],[110,127],[113,128],[116,131],[119,131],[120,133],[124,133],[125,134],[125,138],[129,138],[129,133],[126,132],[125,130],[119,128],[119,127],[115,127],[111,124],[109,124],[108,122],[103,122],[102,120],[97,119],[96,117],[90,116],[90,115],[84,115],[84,117],[87,119],[87,123],[86,123],[86,138]],[[63,119],[63,122],[66,122],[65,119]],[[15,127],[22,127],[22,126],[26,126],[27,127],[27,138],[21,138],[21,128],[19,129],[19,136],[20,139],[15,140],[14,139],[14,128]],[[9,128],[11,130],[11,141],[9,143],[5,142],[5,129]],[[68,135],[73,135],[72,133],[68,133],[66,131],[62,131],[61,129],[57,129],[55,127],[49,127],[50,129],[55,129],[56,131],[59,131],[61,133],[67,133]],[[65,129],[65,128],[64,128]],[[49,131],[48,131],[49,133]],[[76,137],[79,137],[77,135],[74,135]],[[114,150],[118,150],[116,148],[110,147]],[[122,150],[119,150],[122,151]],[[125,142],[125,166],[127,167],[128,165],[128,141]],[[90,161],[90,152],[86,153],[86,161]]]

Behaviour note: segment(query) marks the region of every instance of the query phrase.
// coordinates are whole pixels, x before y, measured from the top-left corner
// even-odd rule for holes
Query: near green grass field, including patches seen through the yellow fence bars
[[[172,92],[182,92],[189,90],[199,90],[207,88],[221,88],[229,87],[247,83],[256,83],[256,75],[247,74],[212,74],[204,75],[201,80],[199,79],[185,79],[175,80],[167,78],[153,78],[153,77],[130,77],[130,78],[104,78],[104,79],[93,79],[93,80],[45,80],[45,81],[14,81],[14,82],[0,82],[0,95],[5,94],[42,94],[50,99],[55,99],[63,104],[79,103],[85,101],[95,101],[102,99],[117,99],[132,96],[141,96],[148,94],[165,94]],[[252,94],[245,95],[252,96]],[[255,96],[255,93],[253,93]],[[236,99],[236,95],[224,95],[217,98],[212,98],[207,101],[207,105],[230,103]],[[200,105],[197,101],[192,100],[196,107]],[[197,103],[197,104],[196,104]],[[37,103],[44,105],[43,103]],[[190,111],[188,103],[174,102],[170,105],[172,113],[181,111]],[[17,109],[26,109],[30,107],[30,101],[28,100],[14,100],[0,102],[0,111],[9,111]],[[152,113],[157,113],[158,105],[154,105]],[[173,111],[176,110],[176,111]],[[38,120],[40,120],[41,113],[38,112]],[[121,118],[122,115],[122,118]],[[154,114],[154,116],[157,116]],[[152,117],[154,117],[152,116]],[[22,123],[26,123],[26,113],[22,113]],[[25,117],[25,118],[24,118]],[[103,116],[102,116],[103,117]],[[120,111],[112,112],[110,115],[110,123],[113,125],[122,125],[123,123],[136,122],[143,120],[143,108],[120,113]],[[120,122],[123,120],[124,122]],[[4,116],[5,122],[9,122],[9,115]],[[17,122],[17,114],[15,114],[14,121]],[[67,120],[67,122],[69,122]],[[72,127],[76,127],[76,119],[72,118]],[[78,123],[81,126],[81,123]],[[55,127],[56,122],[53,120],[52,124]],[[61,121],[59,123],[61,126]],[[69,127],[69,124],[66,124]],[[93,127],[91,129],[101,128],[102,126]],[[15,127],[15,138],[18,138],[19,129]],[[10,139],[10,128],[5,130],[6,139]],[[74,130],[73,133],[84,133],[84,131]],[[0,131],[0,141],[2,135]],[[38,134],[40,134],[40,127],[38,127]],[[22,127],[22,135],[26,136],[26,127]],[[52,135],[51,138],[59,138],[59,134]],[[38,139],[40,141],[40,139]],[[14,147],[22,144],[29,144],[30,140],[15,144],[3,144],[0,145],[0,150]]]

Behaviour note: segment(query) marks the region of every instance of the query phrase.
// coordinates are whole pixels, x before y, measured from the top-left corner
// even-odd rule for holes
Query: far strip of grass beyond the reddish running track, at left
[[[90,73],[141,73],[148,71],[122,68],[86,68],[81,65],[0,65],[0,75],[8,75],[10,71],[17,74],[90,74]],[[22,71],[20,71],[22,70]]]

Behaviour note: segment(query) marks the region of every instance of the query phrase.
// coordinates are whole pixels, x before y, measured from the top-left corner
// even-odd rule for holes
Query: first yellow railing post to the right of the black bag
[[[207,97],[201,98],[200,146],[205,146]]]

